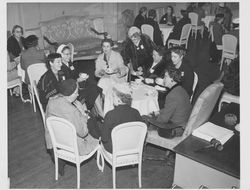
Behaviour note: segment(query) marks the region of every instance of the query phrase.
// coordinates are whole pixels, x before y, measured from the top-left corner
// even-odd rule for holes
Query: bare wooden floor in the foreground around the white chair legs
[[[148,146],[150,154],[164,154]],[[55,181],[54,164],[46,153],[44,128],[39,110],[34,113],[30,103],[8,96],[8,176],[10,188],[76,188],[76,167],[66,165],[65,175]],[[117,187],[138,188],[137,167],[118,169]],[[143,188],[169,188],[174,165],[146,160],[142,165]],[[104,172],[95,158],[81,166],[81,188],[112,188],[112,170],[106,164]]]

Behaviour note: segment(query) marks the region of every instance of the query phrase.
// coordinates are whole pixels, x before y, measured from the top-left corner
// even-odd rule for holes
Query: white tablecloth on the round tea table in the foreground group
[[[151,112],[159,111],[158,92],[154,87],[145,84],[136,85],[133,83],[131,88],[133,91],[131,107],[137,109],[141,115],[148,115]],[[112,109],[114,109],[113,92],[112,89],[109,89],[105,95],[104,114]]]

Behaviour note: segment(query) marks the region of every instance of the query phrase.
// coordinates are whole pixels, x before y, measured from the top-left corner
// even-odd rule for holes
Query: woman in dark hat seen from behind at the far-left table
[[[21,53],[21,68],[25,71],[25,83],[29,84],[29,77],[27,69],[30,65],[36,63],[45,63],[46,56],[43,50],[39,50],[38,45],[38,37],[35,35],[30,35],[25,38],[25,45],[27,47],[26,50]]]

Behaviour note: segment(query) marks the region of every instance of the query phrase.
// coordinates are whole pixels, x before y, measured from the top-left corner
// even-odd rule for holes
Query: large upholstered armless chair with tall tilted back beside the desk
[[[148,131],[146,142],[151,143],[168,150],[173,150],[181,141],[183,141],[187,136],[189,136],[193,130],[205,123],[220,96],[221,90],[223,88],[222,83],[213,83],[209,85],[196,100],[192,112],[189,116],[186,128],[181,137],[175,137],[173,139],[166,139],[158,135],[157,130]]]

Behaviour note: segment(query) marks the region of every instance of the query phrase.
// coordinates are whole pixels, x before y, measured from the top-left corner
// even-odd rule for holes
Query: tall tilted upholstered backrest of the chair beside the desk
[[[186,138],[193,130],[205,123],[220,96],[223,84],[220,82],[209,85],[196,100],[190,114],[183,137]]]

